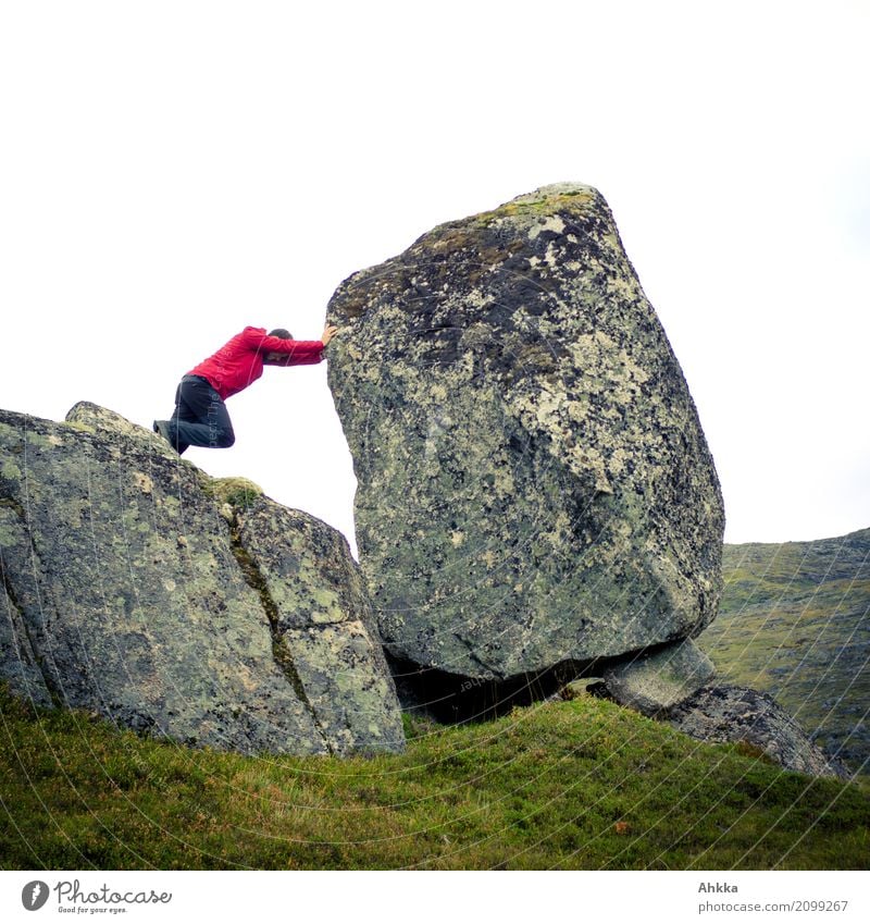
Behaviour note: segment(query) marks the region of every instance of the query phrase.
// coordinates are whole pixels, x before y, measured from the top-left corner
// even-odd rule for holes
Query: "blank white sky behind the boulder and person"
[[[0,406],[150,427],[245,324],[572,180],[608,199],[726,540],[870,526],[870,3],[0,0]],[[212,475],[352,531],[325,367],[232,398]]]

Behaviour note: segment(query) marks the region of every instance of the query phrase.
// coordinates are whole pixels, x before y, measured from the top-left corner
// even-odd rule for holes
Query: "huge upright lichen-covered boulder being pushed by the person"
[[[719,483],[596,190],[442,225],[343,283],[328,320],[390,654],[504,679],[712,619]]]

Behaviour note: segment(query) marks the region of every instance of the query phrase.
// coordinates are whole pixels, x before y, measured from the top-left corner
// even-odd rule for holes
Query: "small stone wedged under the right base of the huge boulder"
[[[611,699],[652,717],[687,700],[714,674],[710,658],[685,639],[608,666],[602,680]]]

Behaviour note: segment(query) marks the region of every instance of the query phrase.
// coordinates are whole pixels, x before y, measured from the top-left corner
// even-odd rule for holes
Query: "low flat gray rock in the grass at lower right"
[[[700,741],[751,744],[786,769],[810,776],[849,776],[767,693],[728,683],[706,686],[673,709],[669,722]]]

